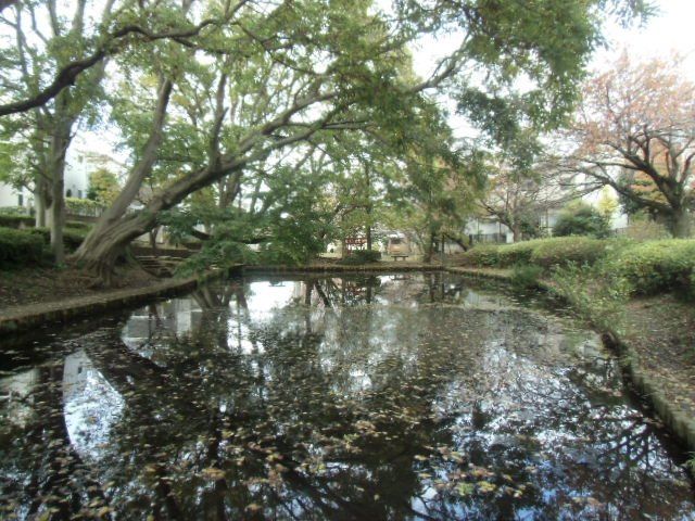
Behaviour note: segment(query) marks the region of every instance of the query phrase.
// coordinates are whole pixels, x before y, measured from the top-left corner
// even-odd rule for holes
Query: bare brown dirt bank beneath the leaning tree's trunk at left
[[[17,306],[144,288],[161,281],[139,267],[119,267],[116,275],[114,287],[104,289],[93,278],[74,267],[0,270],[0,315]]]

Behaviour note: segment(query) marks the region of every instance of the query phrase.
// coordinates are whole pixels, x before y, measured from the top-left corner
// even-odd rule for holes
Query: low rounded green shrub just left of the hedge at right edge
[[[606,255],[606,241],[587,237],[563,237],[539,241],[531,263],[552,268],[568,264],[592,265]]]

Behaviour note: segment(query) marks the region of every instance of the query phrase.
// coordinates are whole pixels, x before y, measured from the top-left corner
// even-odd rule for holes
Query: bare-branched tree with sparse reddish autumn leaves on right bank
[[[677,58],[635,63],[627,53],[584,86],[567,136],[577,145],[561,161],[589,186],[612,187],[632,208],[691,233],[695,203],[695,84]]]

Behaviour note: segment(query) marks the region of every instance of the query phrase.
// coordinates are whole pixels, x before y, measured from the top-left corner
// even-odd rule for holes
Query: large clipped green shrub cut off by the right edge
[[[632,244],[608,262],[609,268],[630,281],[634,291],[654,294],[695,289],[695,240],[668,239]]]

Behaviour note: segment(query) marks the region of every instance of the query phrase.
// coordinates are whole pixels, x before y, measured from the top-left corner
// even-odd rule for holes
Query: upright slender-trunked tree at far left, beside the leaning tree
[[[10,28],[15,46],[1,60],[0,73],[5,89],[3,100],[11,96],[25,96],[41,89],[46,68],[61,67],[94,37],[93,27],[106,23],[111,16],[113,1],[103,7],[86,1],[73,2],[70,10],[58,13],[54,0],[45,5],[33,2],[17,2],[11,14],[0,16],[1,25]],[[63,7],[65,9],[65,7]],[[3,118],[0,130],[4,137],[26,149],[26,162],[14,168],[17,177],[26,177],[22,171],[30,167],[30,188],[37,205],[37,225],[48,225],[51,230],[51,246],[55,260],[64,260],[63,223],[65,219],[64,171],[66,155],[74,137],[75,127],[81,119],[94,119],[88,114],[93,100],[99,97],[100,84],[104,76],[104,62],[83,75],[72,90],[62,90],[54,96],[50,105],[33,109],[28,117]]]

